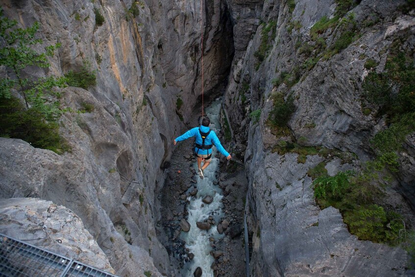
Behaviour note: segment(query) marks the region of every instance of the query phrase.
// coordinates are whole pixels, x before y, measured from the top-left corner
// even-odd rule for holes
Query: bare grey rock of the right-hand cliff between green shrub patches
[[[333,176],[339,171],[357,169],[373,157],[369,139],[386,126],[383,119],[362,111],[362,82],[369,73],[364,65],[372,58],[378,63],[376,72],[382,72],[387,50],[402,34],[404,46],[414,50],[413,14],[397,11],[404,1],[359,1],[350,12],[354,20],[370,20],[370,12],[384,20],[365,25],[361,36],[338,53],[311,61],[309,58],[317,50],[307,52],[307,46],[314,45],[310,29],[323,16],[333,18],[338,1],[295,0],[291,1],[292,6],[279,0],[228,2],[232,3],[234,28],[247,21],[255,23],[258,18],[263,21],[261,25],[251,25],[254,30],[249,33],[247,44],[241,37],[248,33],[235,38],[235,44],[241,45],[235,45],[225,99],[235,141],[241,150],[246,148],[249,189],[245,212],[248,226],[255,226],[251,275],[408,274],[405,251],[357,240],[348,232],[339,210],[320,210],[307,172],[324,161]],[[260,6],[255,9],[259,14],[253,12],[252,5]],[[249,19],[236,18],[237,10],[250,11]],[[267,28],[269,32],[264,34]],[[268,38],[266,43],[264,38]],[[327,31],[327,48],[338,38],[335,31]],[[309,62],[315,64],[309,66]],[[291,75],[283,80],[284,74]],[[285,94],[285,99],[292,94],[296,109],[288,123],[289,131],[276,136],[267,120],[273,108],[272,96],[278,92]],[[249,116],[252,111],[260,112],[257,122]],[[245,141],[246,145],[241,145]],[[318,155],[308,155],[300,163],[297,153],[279,155],[275,151],[281,141],[301,141],[306,146],[354,154],[345,163]],[[399,153],[400,173],[392,183],[414,205],[413,141],[413,135],[409,135],[405,150]],[[399,202],[407,206],[402,197]]]

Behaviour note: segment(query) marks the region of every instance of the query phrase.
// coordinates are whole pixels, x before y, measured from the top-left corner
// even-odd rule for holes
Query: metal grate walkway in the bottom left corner
[[[0,234],[0,277],[117,277]]]

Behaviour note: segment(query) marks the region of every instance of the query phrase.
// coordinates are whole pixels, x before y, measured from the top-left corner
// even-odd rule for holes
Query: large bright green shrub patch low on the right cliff
[[[362,183],[362,177],[353,172],[318,177],[313,181],[316,201],[321,208],[340,209],[344,223],[359,239],[396,245],[405,239],[402,217],[376,204],[382,199],[379,189],[367,180]]]

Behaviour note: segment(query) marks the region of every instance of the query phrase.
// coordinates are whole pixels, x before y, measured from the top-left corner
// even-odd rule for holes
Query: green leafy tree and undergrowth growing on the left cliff
[[[66,78],[56,76],[33,77],[29,67],[49,68],[49,56],[60,45],[46,47],[36,38],[39,24],[19,28],[16,20],[5,17],[0,7],[0,136],[20,138],[39,148],[64,151],[56,120],[61,116],[60,94],[56,87],[65,87]]]

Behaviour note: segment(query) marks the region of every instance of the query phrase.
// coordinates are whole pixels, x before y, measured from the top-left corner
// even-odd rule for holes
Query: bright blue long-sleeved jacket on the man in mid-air
[[[207,133],[210,128],[206,127],[206,126],[200,126],[200,130],[203,133]],[[187,132],[185,132],[184,134],[182,134],[181,136],[177,137],[175,139],[175,141],[179,142],[191,137],[195,137],[196,138],[196,144],[202,144],[202,136],[200,135],[199,132],[199,127],[195,127],[192,128],[190,130],[188,130]],[[223,146],[220,144],[219,138],[216,135],[216,133],[214,131],[211,131],[209,133],[209,135],[205,138],[205,145],[215,145],[216,148],[224,155],[224,156],[229,156],[229,153],[223,148]],[[198,151],[198,152],[197,152]],[[206,149],[206,150],[202,150],[202,149],[198,149],[197,147],[195,148],[195,152],[201,154],[201,155],[208,155],[210,153],[212,153],[212,149]]]

